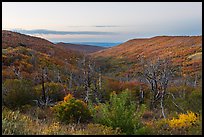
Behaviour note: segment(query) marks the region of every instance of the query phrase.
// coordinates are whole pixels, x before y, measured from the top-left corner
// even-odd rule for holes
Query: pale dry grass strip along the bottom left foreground
[[[36,116],[41,115],[42,111],[37,109],[35,112],[39,114]],[[118,130],[100,124],[65,125],[52,117],[40,119],[19,110],[13,111],[7,108],[3,108],[2,114],[3,135],[114,135],[120,133]]]

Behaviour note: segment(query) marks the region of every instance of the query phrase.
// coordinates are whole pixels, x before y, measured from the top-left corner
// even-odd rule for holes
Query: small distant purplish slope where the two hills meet
[[[63,42],[57,43],[57,46],[62,46],[64,48],[67,48],[73,51],[82,52],[82,53],[93,53],[96,51],[106,49],[105,47],[100,47],[100,46],[72,44],[72,43],[63,43]]]

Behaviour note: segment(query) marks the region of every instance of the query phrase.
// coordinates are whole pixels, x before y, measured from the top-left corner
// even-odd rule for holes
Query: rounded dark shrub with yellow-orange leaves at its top
[[[64,101],[59,102],[53,107],[58,119],[65,123],[86,122],[91,114],[87,105],[68,94]]]

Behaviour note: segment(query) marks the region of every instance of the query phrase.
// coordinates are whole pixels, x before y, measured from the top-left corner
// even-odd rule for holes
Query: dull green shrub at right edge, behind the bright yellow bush
[[[202,111],[202,90],[200,87],[188,87],[179,86],[171,87],[169,92],[174,95],[175,99],[169,95],[164,100],[165,108],[171,114],[184,113],[187,111],[193,111],[195,113],[201,113]],[[173,102],[178,105],[178,107],[173,104]]]

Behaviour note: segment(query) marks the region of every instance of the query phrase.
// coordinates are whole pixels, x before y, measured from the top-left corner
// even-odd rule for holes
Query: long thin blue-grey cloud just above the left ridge
[[[116,32],[102,32],[102,31],[57,31],[57,30],[46,30],[46,29],[13,29],[12,31],[20,32],[24,34],[54,34],[54,35],[112,35],[117,34]]]

